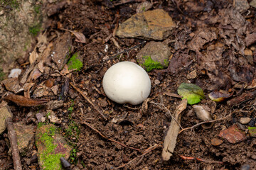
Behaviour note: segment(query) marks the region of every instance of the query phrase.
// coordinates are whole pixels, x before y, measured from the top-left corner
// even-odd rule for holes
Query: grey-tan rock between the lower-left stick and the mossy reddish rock
[[[21,156],[25,156],[33,148],[36,126],[18,122],[14,123],[14,129],[17,134],[18,151]]]

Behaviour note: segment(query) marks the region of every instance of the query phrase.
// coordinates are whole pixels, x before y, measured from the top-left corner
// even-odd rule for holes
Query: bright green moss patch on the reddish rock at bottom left
[[[44,170],[61,169],[60,157],[65,157],[64,154],[54,154],[54,149],[57,145],[53,144],[53,136],[56,130],[56,128],[51,127],[48,128],[47,132],[39,134],[39,140],[43,142],[43,145],[46,147],[45,151],[40,154]]]

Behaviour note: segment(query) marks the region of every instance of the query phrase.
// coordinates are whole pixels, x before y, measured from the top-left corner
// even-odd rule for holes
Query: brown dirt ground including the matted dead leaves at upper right
[[[148,73],[152,85],[151,94],[148,108],[143,111],[142,105],[114,103],[105,96],[102,88],[102,77],[107,69],[120,61],[136,62],[137,52],[144,45],[144,40],[115,37],[119,49],[113,40],[105,41],[118,23],[126,21],[136,13],[140,2],[131,1],[113,6],[114,1],[112,4],[104,0],[75,0],[66,3],[57,13],[50,16],[46,28],[48,40],[56,32],[58,35],[65,33],[65,30],[60,28],[77,30],[85,35],[85,43],[75,42],[73,37],[73,53],[79,52],[83,68],[79,72],[72,72],[70,82],[83,91],[107,117],[107,120],[102,118],[78,91],[69,86],[64,107],[58,109],[56,115],[62,119],[58,126],[63,130],[63,135],[75,149],[69,160],[72,163],[71,169],[116,169],[124,165],[120,169],[231,170],[240,169],[245,164],[250,165],[250,169],[256,169],[255,138],[246,134],[246,140],[235,144],[227,140],[223,140],[218,146],[211,143],[213,138],[218,138],[221,130],[230,128],[242,117],[252,118],[249,124],[242,125],[243,132],[247,133],[248,126],[255,126],[255,98],[249,98],[234,106],[228,105],[226,101],[215,103],[208,98],[208,94],[215,89],[234,91],[232,98],[255,90],[246,89],[246,85],[250,84],[256,75],[255,41],[250,42],[250,34],[256,31],[255,8],[250,7],[239,13],[238,9],[234,11],[233,1],[152,1],[150,10],[163,8],[177,26],[164,40],[173,53],[169,67]],[[109,46],[107,52],[105,45]],[[137,48],[132,48],[135,46]],[[106,56],[115,56],[122,50],[127,52],[103,63]],[[248,50],[252,52],[251,55],[247,55]],[[23,61],[26,62],[28,60]],[[21,68],[24,71],[26,67],[28,66]],[[194,70],[196,77],[188,79],[188,74]],[[37,84],[49,78],[49,75],[44,75],[39,78]],[[60,87],[65,81],[64,77],[53,79],[54,84]],[[216,121],[210,129],[199,125],[184,130],[178,135],[174,155],[168,162],[163,162],[161,152],[165,133],[171,122],[169,112],[174,113],[181,101],[181,98],[170,94],[176,94],[178,86],[183,82],[196,84],[203,89],[206,99],[203,99],[201,104],[210,108],[215,119],[223,118],[233,111],[250,112],[238,112],[229,118]],[[1,94],[3,95],[4,93]],[[58,95],[49,98],[56,100]],[[14,103],[9,106],[14,113],[15,122],[26,120],[28,124],[38,124],[36,119],[28,121],[26,116],[29,111],[38,111],[37,107],[21,107]],[[188,105],[183,111],[182,128],[201,122],[192,109],[192,106]],[[39,111],[43,113],[45,110],[46,108],[41,107]],[[117,119],[116,123],[111,121],[113,118]],[[89,123],[98,132],[85,123]],[[0,159],[6,160],[4,169],[12,169],[12,159],[7,153],[6,133],[0,136]],[[106,138],[118,141],[126,147]],[[154,149],[142,156],[148,148]],[[200,158],[203,161],[186,160],[184,157]],[[28,159],[31,159],[29,152],[26,157],[21,157],[24,169],[39,169],[37,162],[28,164]]]

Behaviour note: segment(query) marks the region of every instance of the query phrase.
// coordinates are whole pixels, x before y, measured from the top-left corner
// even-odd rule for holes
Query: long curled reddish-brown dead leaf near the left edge
[[[15,94],[9,94],[8,96],[4,97],[4,99],[8,101],[12,101],[16,103],[18,106],[26,106],[26,107],[40,106],[48,102],[48,100],[46,99],[32,99],[32,98],[26,98],[23,96],[18,96]]]

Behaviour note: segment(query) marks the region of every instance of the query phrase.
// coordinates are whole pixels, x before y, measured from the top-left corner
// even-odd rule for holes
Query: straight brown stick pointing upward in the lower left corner
[[[14,123],[12,122],[11,118],[6,118],[5,123],[8,130],[8,138],[11,144],[11,154],[14,161],[14,169],[22,170],[21,157],[18,152],[17,135],[14,130]]]

